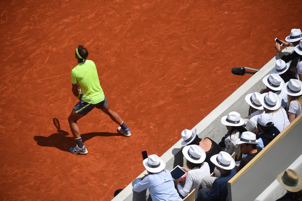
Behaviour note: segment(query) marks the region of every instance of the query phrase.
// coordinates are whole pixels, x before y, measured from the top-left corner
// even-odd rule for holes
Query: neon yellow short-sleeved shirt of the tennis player
[[[72,84],[79,84],[82,90],[82,100],[97,104],[104,101],[105,95],[98,79],[98,72],[95,63],[91,60],[86,60],[84,63],[79,63],[71,70]]]

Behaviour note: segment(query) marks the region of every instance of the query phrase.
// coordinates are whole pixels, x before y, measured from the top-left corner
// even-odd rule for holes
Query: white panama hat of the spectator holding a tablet
[[[204,162],[206,152],[198,145],[189,145],[182,149],[182,154],[185,158],[195,164]]]

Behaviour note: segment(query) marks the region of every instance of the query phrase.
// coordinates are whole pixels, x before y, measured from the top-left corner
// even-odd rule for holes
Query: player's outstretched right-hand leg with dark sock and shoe
[[[112,110],[109,107],[109,105],[107,103],[106,97],[105,97],[104,101],[100,102],[98,104],[98,106],[96,106],[96,108],[101,109],[104,113],[106,113],[108,116],[110,116],[110,118],[115,123],[117,123],[118,125],[120,125],[120,127],[117,128],[117,132],[120,132],[120,133],[124,134],[124,136],[126,136],[126,137],[130,137],[131,136],[130,129],[126,126],[126,124],[120,118],[120,116],[117,114],[117,112],[115,112],[114,110]]]

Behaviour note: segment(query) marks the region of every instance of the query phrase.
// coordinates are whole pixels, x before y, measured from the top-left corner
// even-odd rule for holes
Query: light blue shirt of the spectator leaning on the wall
[[[147,188],[153,201],[182,201],[169,170],[149,174],[143,180],[137,179],[133,191],[140,193]]]

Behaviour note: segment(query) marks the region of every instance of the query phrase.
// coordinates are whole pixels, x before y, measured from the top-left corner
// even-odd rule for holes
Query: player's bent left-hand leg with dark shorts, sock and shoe
[[[89,104],[85,101],[79,101],[76,106],[73,108],[72,112],[68,117],[69,127],[76,140],[76,147],[70,148],[70,151],[74,154],[87,154],[87,148],[82,142],[80,129],[77,123],[77,120],[85,116],[90,112],[95,105]]]

